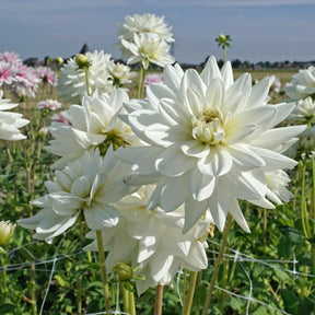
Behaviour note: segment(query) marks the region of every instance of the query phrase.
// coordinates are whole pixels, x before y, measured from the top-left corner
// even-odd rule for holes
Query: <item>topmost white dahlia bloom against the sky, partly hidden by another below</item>
[[[133,34],[150,34],[158,35],[161,39],[172,43],[174,42],[171,33],[172,26],[164,22],[164,16],[156,16],[155,14],[144,13],[142,15],[127,15],[125,23],[118,24],[118,36],[126,40],[133,40]]]

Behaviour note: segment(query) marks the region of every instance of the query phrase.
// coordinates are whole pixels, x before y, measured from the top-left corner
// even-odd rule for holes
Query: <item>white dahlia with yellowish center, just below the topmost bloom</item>
[[[121,39],[121,45],[126,49],[127,63],[141,62],[147,70],[150,63],[165,67],[175,62],[175,58],[168,54],[171,46],[158,36],[144,34],[133,34],[133,42]],[[128,52],[127,52],[128,50]]]

